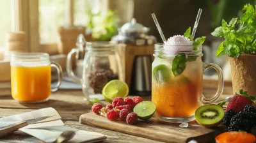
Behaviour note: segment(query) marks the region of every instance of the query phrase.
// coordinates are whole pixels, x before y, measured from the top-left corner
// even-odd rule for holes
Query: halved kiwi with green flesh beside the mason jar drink
[[[206,128],[218,126],[225,115],[220,105],[204,105],[196,109],[195,117],[198,124]]]

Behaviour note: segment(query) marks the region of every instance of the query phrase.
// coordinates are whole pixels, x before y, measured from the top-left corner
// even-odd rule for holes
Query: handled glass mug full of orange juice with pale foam
[[[58,72],[58,83],[51,88],[51,67]],[[61,84],[62,69],[51,63],[46,53],[11,54],[12,97],[19,102],[46,102]]]

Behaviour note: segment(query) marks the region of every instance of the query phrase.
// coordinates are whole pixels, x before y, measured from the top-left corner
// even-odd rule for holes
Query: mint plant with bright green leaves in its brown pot
[[[211,34],[225,40],[216,50],[216,56],[227,55],[230,59],[233,93],[239,89],[256,96],[256,6],[246,4],[240,19],[233,18]]]

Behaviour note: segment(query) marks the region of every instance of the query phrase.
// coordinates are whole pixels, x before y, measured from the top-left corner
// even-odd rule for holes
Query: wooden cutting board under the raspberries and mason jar
[[[83,114],[79,119],[81,124],[99,126],[108,130],[114,130],[122,133],[145,137],[147,139],[158,140],[162,142],[189,142],[194,139],[200,142],[215,142],[214,138],[221,132],[226,132],[225,126],[209,129],[196,123],[190,122],[188,128],[180,128],[180,123],[168,123],[161,121],[156,117],[148,121],[139,120],[137,124],[130,125],[124,121],[110,121],[105,117],[94,114],[93,112]]]

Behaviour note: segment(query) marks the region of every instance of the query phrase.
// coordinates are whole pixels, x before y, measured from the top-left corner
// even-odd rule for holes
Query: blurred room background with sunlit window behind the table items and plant
[[[207,36],[203,61],[220,65],[225,80],[231,80],[228,57],[215,57],[222,39],[214,38],[211,32],[220,26],[222,19],[239,17],[244,4],[256,4],[256,0],[0,0],[0,3],[0,80],[10,77],[8,68],[2,67],[10,66],[8,53],[12,51],[47,52],[65,69],[65,56],[76,47],[79,33],[84,34],[86,41],[108,41],[118,34],[118,27],[135,18],[150,29],[148,35],[162,42],[151,13],[156,14],[164,35],[170,37],[193,27],[199,8],[203,11],[195,37]],[[21,35],[22,40],[13,38],[15,35]],[[214,77],[215,73],[207,70],[205,75]]]

